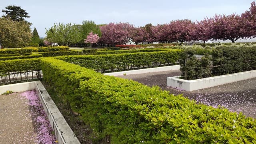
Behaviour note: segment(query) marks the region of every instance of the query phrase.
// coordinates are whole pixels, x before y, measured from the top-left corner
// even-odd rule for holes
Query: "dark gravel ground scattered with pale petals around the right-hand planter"
[[[209,106],[223,106],[230,111],[242,112],[246,116],[256,118],[256,78],[192,92],[181,91],[166,86],[167,77],[179,76],[180,73],[179,70],[176,70],[118,77],[132,79],[148,86],[159,86],[162,90],[168,90],[174,95],[183,94],[183,96],[191,100],[193,99]]]

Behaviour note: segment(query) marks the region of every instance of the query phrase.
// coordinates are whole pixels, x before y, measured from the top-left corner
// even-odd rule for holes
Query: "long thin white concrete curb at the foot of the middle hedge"
[[[157,68],[145,68],[145,69],[140,69],[140,70],[128,70],[128,71],[123,71],[123,72],[110,72],[106,73],[104,75],[107,76],[122,76],[124,74],[129,75],[129,74],[145,74],[149,72],[164,72],[164,71],[169,71],[169,70],[180,70],[180,65],[175,65],[175,66],[163,66],[163,67],[157,67]]]

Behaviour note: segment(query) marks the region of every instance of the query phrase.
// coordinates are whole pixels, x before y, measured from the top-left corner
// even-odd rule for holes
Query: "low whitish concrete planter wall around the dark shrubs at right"
[[[222,84],[228,84],[231,82],[237,82],[240,80],[256,78],[256,70],[238,72],[235,74],[226,74],[223,76],[214,76],[210,78],[202,78],[198,80],[183,80],[178,77],[180,76],[168,77],[167,86],[180,90],[193,91],[203,88],[210,88],[213,86],[219,86]]]

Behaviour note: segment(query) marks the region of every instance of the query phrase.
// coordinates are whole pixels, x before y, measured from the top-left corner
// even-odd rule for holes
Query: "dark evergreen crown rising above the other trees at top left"
[[[26,10],[20,8],[20,6],[6,6],[6,10],[2,10],[2,12],[6,13],[3,15],[4,18],[10,18],[13,21],[25,21],[24,18],[30,18]]]

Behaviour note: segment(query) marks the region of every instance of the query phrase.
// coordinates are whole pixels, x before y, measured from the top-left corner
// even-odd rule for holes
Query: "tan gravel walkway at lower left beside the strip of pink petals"
[[[0,95],[0,144],[34,144],[36,140],[28,100],[20,93]]]

